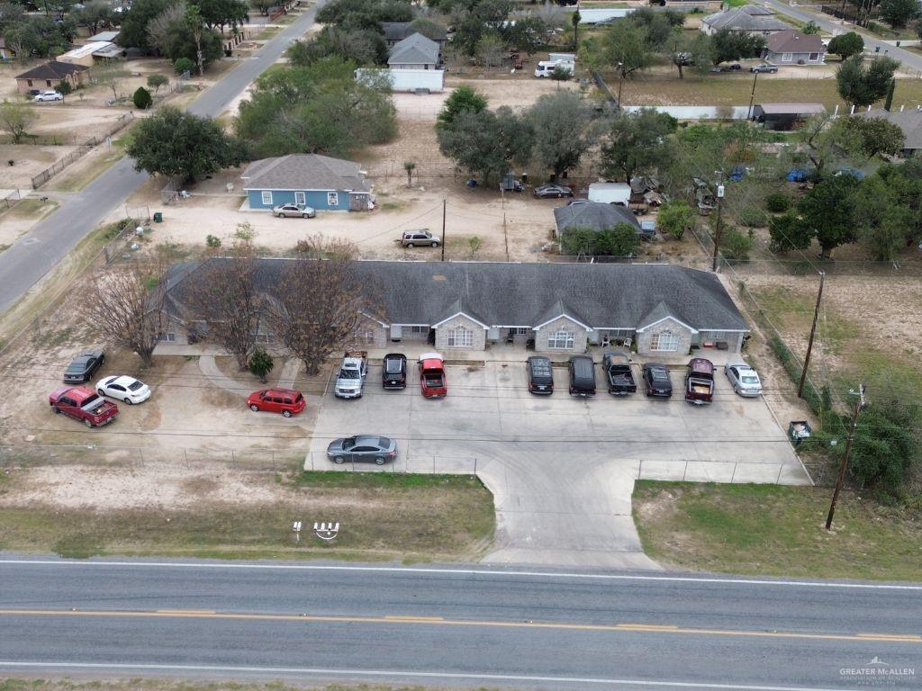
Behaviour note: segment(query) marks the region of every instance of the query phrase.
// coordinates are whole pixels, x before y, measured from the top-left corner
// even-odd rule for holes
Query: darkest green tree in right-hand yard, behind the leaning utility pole
[[[848,173],[833,175],[800,200],[800,217],[819,241],[823,256],[831,257],[836,247],[858,239],[856,190],[860,184]]]

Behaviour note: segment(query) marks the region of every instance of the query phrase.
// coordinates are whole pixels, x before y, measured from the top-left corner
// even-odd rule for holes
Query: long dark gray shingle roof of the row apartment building
[[[257,261],[258,285],[270,292],[281,284],[284,263],[313,260]],[[167,304],[174,316],[195,318],[183,307],[183,285],[195,280],[195,267],[171,267]],[[562,312],[594,328],[633,329],[661,315],[698,330],[749,329],[714,274],[674,264],[368,261],[357,267],[382,319],[395,324],[435,324],[463,311],[488,326],[537,326]]]

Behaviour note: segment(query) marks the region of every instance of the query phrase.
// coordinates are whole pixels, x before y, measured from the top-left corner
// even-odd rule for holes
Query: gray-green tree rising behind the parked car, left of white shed
[[[565,174],[579,165],[589,147],[589,110],[573,91],[541,96],[527,111],[535,131],[535,159],[545,170]]]

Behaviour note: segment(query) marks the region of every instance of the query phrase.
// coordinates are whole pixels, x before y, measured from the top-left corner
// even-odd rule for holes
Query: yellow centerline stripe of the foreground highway
[[[496,627],[530,628],[564,631],[609,631],[615,633],[661,633],[689,636],[733,636],[742,638],[800,638],[813,640],[869,640],[881,643],[922,643],[922,636],[916,634],[884,633],[802,633],[797,631],[745,630],[724,628],[684,628],[663,624],[568,624],[557,622],[481,621],[473,619],[444,619],[441,616],[385,615],[385,616],[337,616],[337,615],[269,615],[215,612],[214,610],[47,610],[47,609],[0,609],[0,616],[95,616],[95,617],[137,617],[137,618],[188,618],[188,619],[231,619],[252,621],[301,621],[339,624],[403,624],[440,627]]]

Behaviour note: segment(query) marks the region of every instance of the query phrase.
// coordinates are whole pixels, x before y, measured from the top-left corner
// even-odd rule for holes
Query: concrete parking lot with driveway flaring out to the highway
[[[327,392],[306,467],[337,468],[327,441],[371,432],[397,439],[400,456],[385,471],[476,472],[497,510],[486,560],[510,564],[656,568],[632,521],[637,477],[810,484],[768,406],[735,395],[722,371],[715,403],[694,406],[682,400],[678,371],[664,401],[603,388],[573,398],[562,368],[550,397],[527,392],[524,363],[446,370],[441,400],[422,397],[412,369],[405,391],[384,391],[374,366],[361,399]]]

